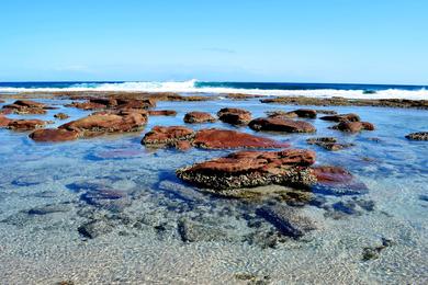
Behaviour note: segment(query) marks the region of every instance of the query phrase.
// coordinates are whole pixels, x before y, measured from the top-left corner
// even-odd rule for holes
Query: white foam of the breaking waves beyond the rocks
[[[55,92],[55,91],[128,91],[128,92],[182,92],[182,93],[244,93],[275,96],[309,96],[331,98],[342,96],[348,99],[412,99],[428,100],[428,90],[385,89],[372,94],[364,94],[364,90],[338,90],[338,89],[313,89],[313,90],[263,90],[263,89],[238,89],[227,87],[196,87],[195,79],[189,81],[133,81],[122,83],[77,83],[68,88],[12,88],[1,87],[0,92]]]

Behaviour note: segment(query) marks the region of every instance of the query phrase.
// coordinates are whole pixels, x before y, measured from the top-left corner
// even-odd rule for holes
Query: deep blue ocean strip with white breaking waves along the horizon
[[[428,86],[289,83],[289,82],[214,82],[214,81],[64,81],[0,82],[0,92],[32,91],[131,91],[183,93],[245,93],[261,95],[304,95],[352,99],[428,99]]]

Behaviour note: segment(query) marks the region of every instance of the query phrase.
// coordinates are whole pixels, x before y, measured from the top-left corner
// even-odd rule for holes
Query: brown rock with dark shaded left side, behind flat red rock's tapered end
[[[285,133],[314,133],[316,128],[303,121],[293,121],[282,117],[259,117],[252,119],[248,126],[255,130],[272,130]]]

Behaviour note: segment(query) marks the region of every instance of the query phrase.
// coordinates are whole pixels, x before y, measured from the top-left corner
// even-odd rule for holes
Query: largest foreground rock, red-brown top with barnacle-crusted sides
[[[239,151],[179,169],[177,175],[215,191],[269,184],[308,186],[316,182],[308,168],[314,162],[315,152],[311,150]]]

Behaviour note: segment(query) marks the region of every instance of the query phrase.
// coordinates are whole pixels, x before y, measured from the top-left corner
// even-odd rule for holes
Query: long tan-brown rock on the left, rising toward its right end
[[[147,116],[136,112],[100,113],[71,121],[59,128],[76,130],[83,137],[106,133],[137,132],[147,123]]]

